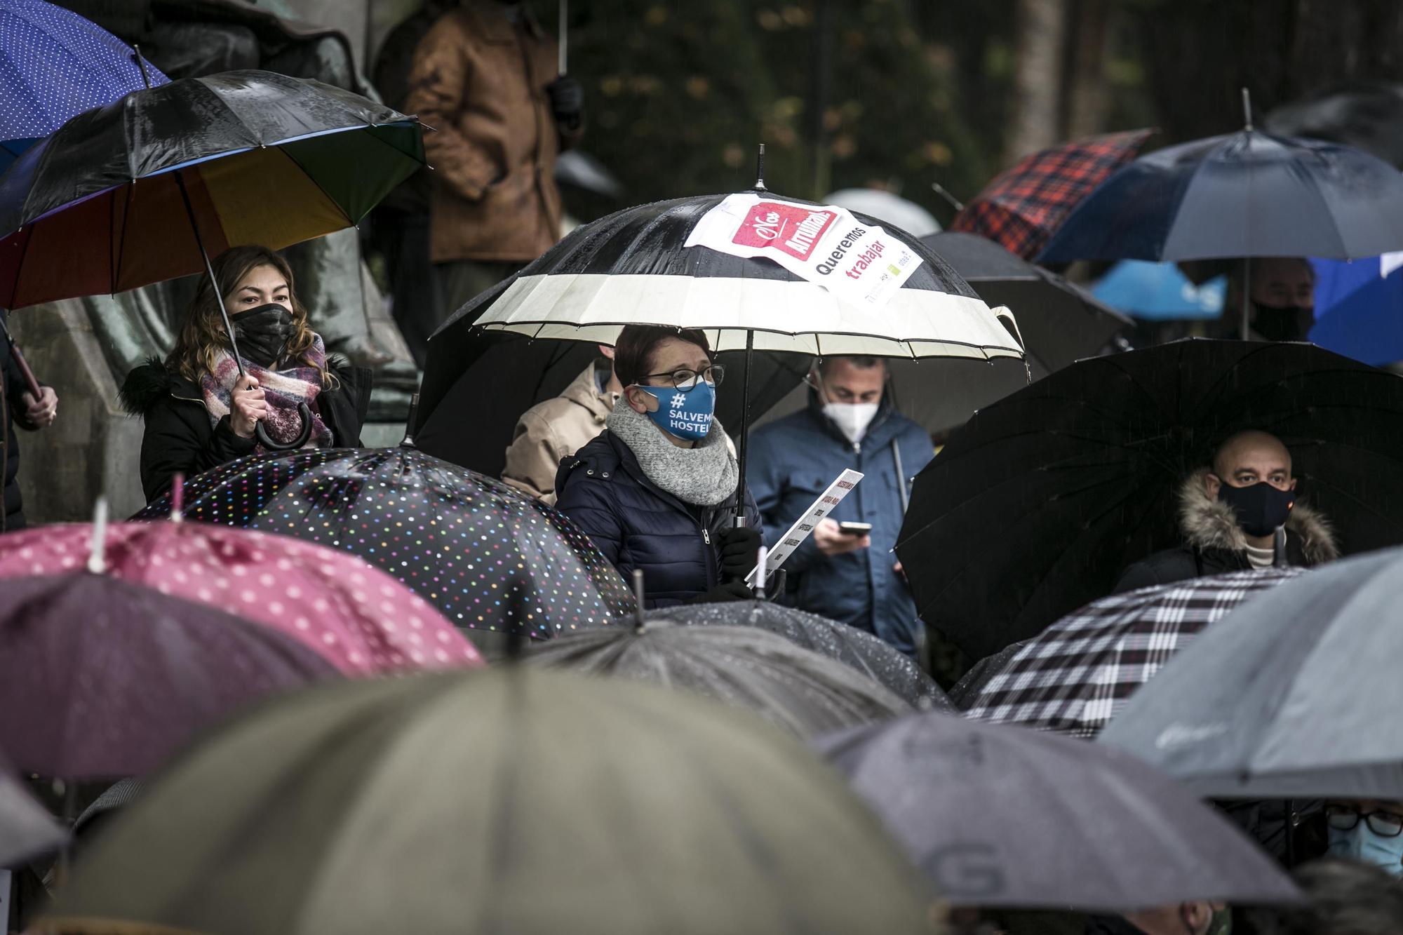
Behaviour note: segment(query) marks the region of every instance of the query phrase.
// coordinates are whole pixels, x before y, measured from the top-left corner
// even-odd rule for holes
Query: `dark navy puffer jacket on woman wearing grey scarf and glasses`
[[[644,604],[672,606],[721,584],[717,533],[730,528],[735,494],[697,507],[654,484],[617,435],[605,430],[560,460],[556,508],[593,539],[633,587],[643,569]],[[753,497],[745,514],[759,524]]]

